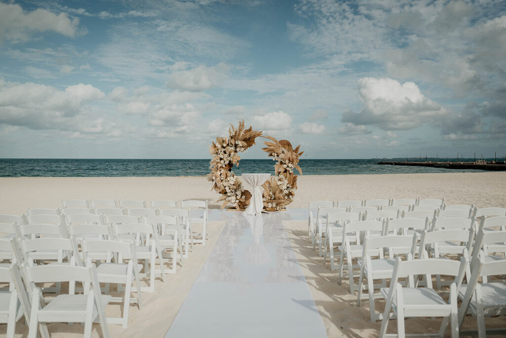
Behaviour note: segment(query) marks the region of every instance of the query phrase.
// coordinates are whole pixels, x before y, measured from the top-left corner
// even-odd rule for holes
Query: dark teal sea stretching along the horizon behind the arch
[[[387,159],[341,159],[308,160],[299,165],[303,175],[350,175],[350,174],[404,174],[461,172],[462,170],[378,165]],[[404,161],[405,159],[389,159]],[[436,159],[427,159],[435,161]],[[454,159],[439,159],[451,161]],[[463,159],[472,161],[473,159]],[[409,161],[417,161],[409,159]],[[418,159],[426,161],[426,159]],[[242,172],[271,172],[274,162],[270,159],[241,160],[233,169]],[[483,170],[466,170],[483,172]],[[0,159],[0,177],[117,177],[117,176],[203,176],[209,173],[209,160],[139,160],[139,159]],[[296,172],[297,173],[297,172]]]

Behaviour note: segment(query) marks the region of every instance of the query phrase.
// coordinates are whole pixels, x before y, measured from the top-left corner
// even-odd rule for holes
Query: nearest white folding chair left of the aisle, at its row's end
[[[31,313],[28,338],[37,336],[37,326],[47,332],[48,322],[80,322],[85,326],[85,337],[91,337],[92,324],[98,319],[103,337],[109,337],[104,307],[111,296],[102,295],[95,265],[75,267],[66,265],[24,266],[24,274],[31,285]],[[84,294],[74,294],[75,282],[85,286]],[[35,283],[69,282],[69,293],[60,294],[46,304],[43,293]]]

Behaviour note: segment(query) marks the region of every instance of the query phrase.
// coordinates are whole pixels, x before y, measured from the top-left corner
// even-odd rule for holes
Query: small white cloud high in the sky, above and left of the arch
[[[199,65],[188,70],[173,71],[165,85],[181,91],[202,92],[219,87],[228,78],[229,68],[226,64],[220,63],[214,67]]]

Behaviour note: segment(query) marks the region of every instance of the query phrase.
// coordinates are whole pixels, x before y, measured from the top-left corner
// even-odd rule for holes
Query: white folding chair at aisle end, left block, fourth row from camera
[[[176,267],[178,265],[178,247],[179,247],[179,261],[183,264],[183,246],[182,241],[179,238],[178,233],[178,221],[175,216],[144,216],[143,222],[153,224],[155,228],[160,231],[158,236],[158,243],[161,247],[161,259],[162,261],[168,260],[172,262],[172,270],[165,270],[166,272],[176,273]],[[166,252],[167,248],[171,248],[172,252]]]

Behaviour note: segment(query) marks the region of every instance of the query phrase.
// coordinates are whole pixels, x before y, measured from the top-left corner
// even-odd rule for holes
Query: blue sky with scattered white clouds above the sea
[[[1,158],[506,156],[506,2],[0,0]],[[264,158],[263,140],[243,158]]]

